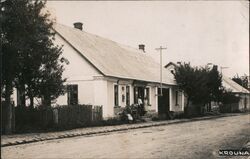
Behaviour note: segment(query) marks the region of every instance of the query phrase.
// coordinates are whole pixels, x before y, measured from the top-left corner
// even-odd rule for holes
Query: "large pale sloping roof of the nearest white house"
[[[141,50],[61,24],[54,29],[103,75],[159,83],[159,63]],[[163,71],[163,83],[175,85],[170,72]]]

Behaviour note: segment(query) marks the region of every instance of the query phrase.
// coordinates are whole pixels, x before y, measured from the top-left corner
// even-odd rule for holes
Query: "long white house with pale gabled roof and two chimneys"
[[[67,93],[58,105],[93,104],[103,106],[103,116],[115,116],[115,109],[143,102],[149,112],[166,114],[183,111],[184,95],[168,69],[163,69],[160,96],[160,65],[145,51],[124,46],[74,27],[54,25],[55,43],[63,45]]]

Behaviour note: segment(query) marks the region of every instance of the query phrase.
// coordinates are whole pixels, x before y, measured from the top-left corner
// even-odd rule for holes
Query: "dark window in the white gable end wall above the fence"
[[[68,85],[68,105],[78,104],[78,85]]]

